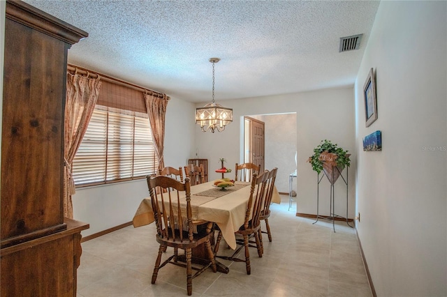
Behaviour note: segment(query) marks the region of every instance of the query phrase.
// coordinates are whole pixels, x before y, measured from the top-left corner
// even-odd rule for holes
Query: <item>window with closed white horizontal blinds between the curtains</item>
[[[144,178],[157,168],[147,114],[96,105],[73,160],[75,185]]]

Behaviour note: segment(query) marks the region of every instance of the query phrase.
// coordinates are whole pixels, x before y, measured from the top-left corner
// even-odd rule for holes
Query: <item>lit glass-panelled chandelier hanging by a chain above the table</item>
[[[196,124],[200,125],[203,132],[214,130],[221,132],[225,126],[233,121],[233,109],[223,107],[214,103],[214,63],[219,62],[219,58],[211,58],[212,63],[212,102],[204,107],[196,108]]]

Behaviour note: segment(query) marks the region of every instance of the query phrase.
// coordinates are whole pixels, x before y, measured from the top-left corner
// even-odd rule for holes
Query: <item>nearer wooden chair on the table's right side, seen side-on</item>
[[[217,235],[216,244],[214,245],[214,253],[216,257],[221,259],[226,259],[230,261],[237,262],[245,262],[245,267],[247,269],[247,274],[251,274],[251,266],[250,266],[250,252],[249,248],[256,247],[258,249],[258,256],[263,257],[262,252],[262,243],[261,237],[259,237],[259,228],[261,227],[260,215],[263,204],[265,203],[265,199],[267,198],[266,191],[266,181],[268,178],[269,172],[264,172],[260,176],[258,174],[253,174],[251,178],[251,188],[250,188],[250,197],[247,202],[247,211],[245,212],[245,220],[244,224],[235,231],[235,235],[237,237],[242,236],[242,239],[236,238],[236,243],[239,247],[233,252],[230,257],[219,256],[217,252],[219,251],[219,244],[222,238],[222,232],[219,231]],[[249,239],[255,237],[256,245],[251,245]],[[242,248],[245,249],[244,259],[240,259],[235,257]]]

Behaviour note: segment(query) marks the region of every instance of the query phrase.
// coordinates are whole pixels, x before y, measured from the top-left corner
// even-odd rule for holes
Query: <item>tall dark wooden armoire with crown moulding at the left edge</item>
[[[80,232],[89,225],[64,218],[64,106],[68,49],[87,36],[6,1],[1,296],[76,296]]]

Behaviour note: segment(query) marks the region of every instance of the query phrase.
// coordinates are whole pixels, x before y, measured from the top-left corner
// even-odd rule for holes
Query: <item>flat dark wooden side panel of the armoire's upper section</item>
[[[66,43],[8,19],[6,31],[1,239],[64,222]]]

